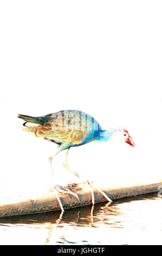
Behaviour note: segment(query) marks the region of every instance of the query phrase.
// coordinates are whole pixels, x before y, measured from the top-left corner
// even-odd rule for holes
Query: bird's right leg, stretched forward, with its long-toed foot
[[[66,150],[66,155],[65,155],[65,158],[64,158],[63,166],[64,166],[65,168],[67,168],[68,170],[70,170],[70,172],[72,172],[73,174],[75,174],[79,179],[81,179],[80,176],[79,176],[79,174],[78,174],[77,172],[75,172],[74,170],[72,170],[72,169],[69,167],[68,163],[67,163],[68,151],[69,151],[69,149]],[[81,180],[81,181],[82,181],[82,180]],[[82,181],[82,182],[83,182],[83,181]],[[112,202],[112,200],[111,200],[98,186],[92,184],[89,180],[86,181],[86,184],[87,184],[87,186],[89,187],[89,190],[90,190],[90,192],[91,192],[91,194],[92,194],[92,204],[93,204],[93,205],[94,205],[94,192],[93,192],[93,190],[92,190],[92,187],[94,187],[96,190],[98,190],[109,202]]]

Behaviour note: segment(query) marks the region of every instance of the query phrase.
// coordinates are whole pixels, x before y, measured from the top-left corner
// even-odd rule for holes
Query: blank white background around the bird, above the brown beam
[[[161,1],[1,1],[0,24],[2,201],[48,189],[57,150],[18,113],[78,109],[123,127],[135,148],[90,143],[69,150],[69,165],[96,181],[161,179]],[[77,181],[63,157],[56,182]]]

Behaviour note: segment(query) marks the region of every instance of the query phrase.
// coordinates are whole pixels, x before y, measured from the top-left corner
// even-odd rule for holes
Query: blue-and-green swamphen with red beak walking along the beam
[[[23,130],[33,133],[36,137],[47,139],[50,142],[54,142],[59,145],[58,150],[53,156],[48,158],[50,163],[51,172],[53,175],[53,190],[56,194],[61,211],[63,212],[63,206],[57,190],[54,186],[54,170],[52,161],[54,157],[61,151],[66,150],[66,154],[63,161],[63,166],[70,172],[77,176],[81,181],[81,176],[75,170],[71,169],[67,162],[68,151],[71,147],[79,147],[81,145],[96,141],[107,142],[114,137],[120,138],[121,141],[134,147],[134,142],[126,129],[112,128],[108,130],[102,129],[98,121],[96,121],[91,115],[77,110],[62,110],[55,113],[42,115],[40,117],[32,117],[30,115],[18,114],[18,118],[25,121],[23,126],[26,126]],[[27,123],[34,123],[35,126],[27,126]],[[112,200],[103,192],[98,186],[94,185],[89,180],[86,181],[91,194],[92,204],[94,205],[94,192],[93,187],[98,190],[109,202]],[[77,198],[80,203],[79,197],[76,193],[71,191],[62,191],[62,193],[72,194]]]

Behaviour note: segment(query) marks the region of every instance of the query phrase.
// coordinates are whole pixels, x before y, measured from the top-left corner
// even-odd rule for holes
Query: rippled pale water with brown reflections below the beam
[[[157,192],[112,204],[0,218],[1,245],[161,244]]]

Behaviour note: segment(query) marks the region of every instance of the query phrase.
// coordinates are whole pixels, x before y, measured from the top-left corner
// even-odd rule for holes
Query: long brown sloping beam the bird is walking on
[[[112,200],[137,196],[139,194],[146,194],[156,192],[162,187],[162,180],[157,183],[147,182],[147,184],[132,184],[130,186],[111,186],[110,184],[100,184],[99,187]],[[92,204],[92,196],[88,187],[85,184],[69,184],[66,186],[57,186],[61,190],[70,190],[77,193],[80,199],[80,204],[74,196],[69,194],[59,193],[64,209],[75,208],[77,206],[84,206]],[[99,202],[106,202],[106,198],[98,191],[94,190],[95,204]],[[54,192],[47,192],[45,194],[33,195],[30,198],[22,198],[13,203],[0,204],[0,217],[36,214],[40,212],[58,211],[60,206]]]

